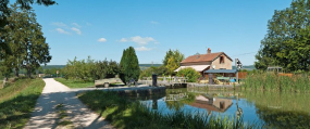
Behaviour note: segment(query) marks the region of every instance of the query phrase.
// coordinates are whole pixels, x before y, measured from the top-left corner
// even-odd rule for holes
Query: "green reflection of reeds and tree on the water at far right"
[[[310,128],[309,94],[245,92],[255,103],[257,117],[273,128]]]

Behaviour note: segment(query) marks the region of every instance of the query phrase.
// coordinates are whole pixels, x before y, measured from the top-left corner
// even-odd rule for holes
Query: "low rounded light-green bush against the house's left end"
[[[176,74],[176,76],[181,77],[187,77],[188,78],[188,82],[196,82],[197,79],[201,76],[198,72],[196,72],[194,68],[191,67],[186,67],[186,68],[182,68],[178,70],[178,73]]]

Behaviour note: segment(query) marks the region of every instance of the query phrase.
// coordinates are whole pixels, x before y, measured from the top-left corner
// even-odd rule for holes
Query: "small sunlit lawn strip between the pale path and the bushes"
[[[64,78],[54,78],[54,80],[67,86],[69,88],[88,88],[88,87],[95,87],[95,82],[84,82],[84,81],[76,81],[71,79],[64,79]]]

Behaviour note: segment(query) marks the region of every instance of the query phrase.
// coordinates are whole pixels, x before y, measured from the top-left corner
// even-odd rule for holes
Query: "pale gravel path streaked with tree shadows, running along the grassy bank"
[[[86,107],[77,98],[76,91],[71,90],[53,78],[44,79],[46,87],[37,100],[35,111],[25,126],[25,129],[37,128],[65,128],[60,127],[60,116],[55,106],[63,104],[63,109],[67,114],[73,128],[82,129],[111,129],[113,128],[101,116],[95,114]],[[72,127],[69,127],[72,128]]]

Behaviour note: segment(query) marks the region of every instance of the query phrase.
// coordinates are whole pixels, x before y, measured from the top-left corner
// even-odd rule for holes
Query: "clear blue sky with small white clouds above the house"
[[[274,10],[290,0],[55,0],[34,5],[52,61],[75,56],[120,62],[134,47],[140,64],[162,63],[169,49],[185,56],[225,52],[251,65]],[[249,54],[245,54],[249,53]]]

